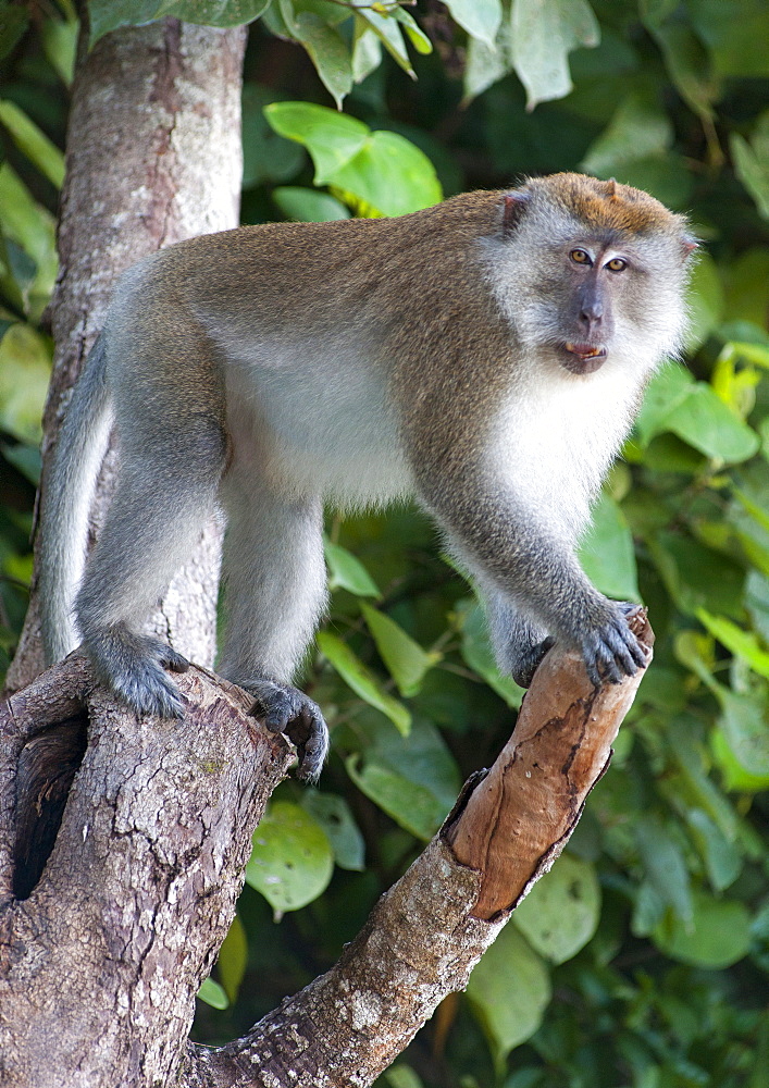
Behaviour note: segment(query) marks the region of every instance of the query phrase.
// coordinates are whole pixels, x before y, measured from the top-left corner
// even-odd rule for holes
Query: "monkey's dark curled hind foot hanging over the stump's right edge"
[[[296,744],[298,777],[315,782],[328,752],[328,729],[320,706],[303,692],[274,680],[253,680],[243,687],[257,700],[251,714]]]

